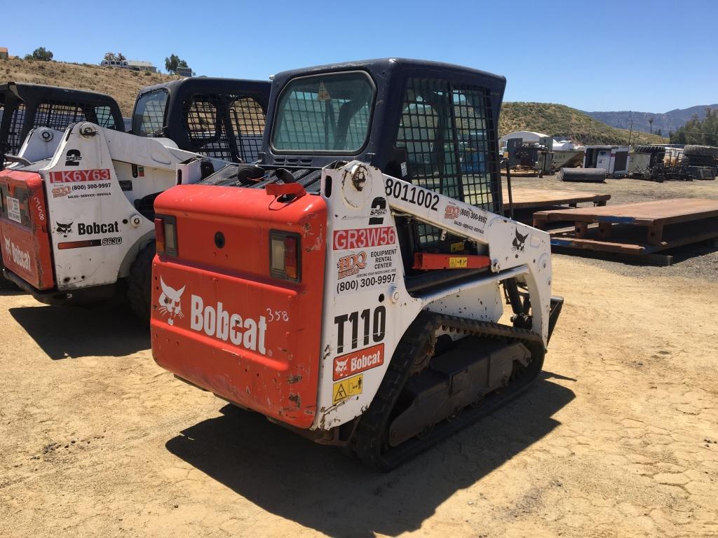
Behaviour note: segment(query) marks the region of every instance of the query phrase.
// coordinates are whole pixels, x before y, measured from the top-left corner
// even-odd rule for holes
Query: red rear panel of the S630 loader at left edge
[[[55,285],[42,178],[34,172],[0,172],[0,248],[6,268],[38,290]],[[16,199],[18,215],[10,207]],[[20,222],[17,222],[17,221]]]

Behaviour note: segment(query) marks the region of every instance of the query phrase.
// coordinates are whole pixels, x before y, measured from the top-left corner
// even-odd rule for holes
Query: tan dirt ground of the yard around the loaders
[[[714,250],[664,268],[554,256],[566,304],[541,378],[386,475],[177,381],[123,308],[3,292],[0,535],[718,536]]]

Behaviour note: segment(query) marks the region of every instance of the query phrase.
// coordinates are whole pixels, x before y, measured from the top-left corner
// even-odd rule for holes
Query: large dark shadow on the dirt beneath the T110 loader
[[[549,374],[550,375],[550,374]],[[172,438],[167,450],[277,516],[333,537],[396,536],[421,527],[456,491],[560,423],[574,392],[537,379],[525,394],[387,474],[233,405]]]

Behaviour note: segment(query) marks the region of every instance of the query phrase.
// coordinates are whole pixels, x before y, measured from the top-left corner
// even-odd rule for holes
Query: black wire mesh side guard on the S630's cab
[[[187,133],[197,153],[225,161],[258,159],[265,113],[242,95],[195,94],[186,104]]]

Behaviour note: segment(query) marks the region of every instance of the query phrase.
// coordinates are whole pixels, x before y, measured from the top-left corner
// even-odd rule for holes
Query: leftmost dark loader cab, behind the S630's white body
[[[4,154],[17,155],[33,128],[65,131],[78,121],[125,130],[120,107],[110,95],[19,82],[0,85],[0,151]]]

